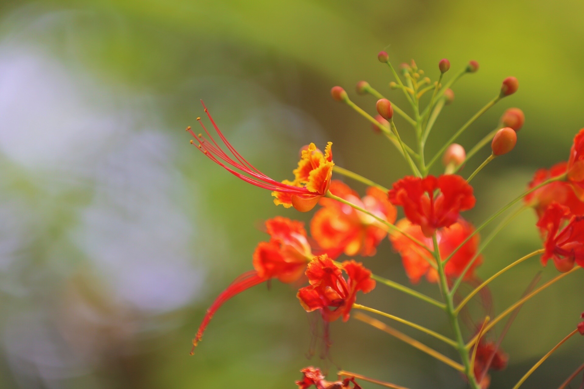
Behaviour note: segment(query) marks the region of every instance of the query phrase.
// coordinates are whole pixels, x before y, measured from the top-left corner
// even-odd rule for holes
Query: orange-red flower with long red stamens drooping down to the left
[[[215,312],[231,297],[271,278],[291,283],[303,274],[312,258],[304,223],[276,216],[266,220],[266,231],[270,234],[270,240],[260,242],[256,247],[253,253],[254,270],[240,275],[217,296],[193,339],[193,348],[203,337]]]

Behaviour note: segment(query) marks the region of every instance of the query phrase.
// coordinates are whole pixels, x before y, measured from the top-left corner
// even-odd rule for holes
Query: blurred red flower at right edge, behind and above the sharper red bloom
[[[552,177],[561,176],[566,173],[567,166],[568,163],[560,162],[552,166],[550,170],[537,170],[536,174],[533,176],[533,180],[529,183],[529,188],[534,188]],[[584,215],[584,202],[580,201],[576,196],[572,189],[572,185],[565,181],[555,181],[544,185],[525,197],[526,204],[533,206],[538,218],[541,218],[545,209],[547,209],[553,201],[567,206],[573,215]]]

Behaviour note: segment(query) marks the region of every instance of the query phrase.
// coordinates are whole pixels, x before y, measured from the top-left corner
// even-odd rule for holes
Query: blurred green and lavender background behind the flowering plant
[[[190,357],[207,306],[251,269],[253,248],[267,239],[262,220],[310,215],[276,208],[267,191],[203,158],[184,128],[202,116],[204,99],[269,176],[290,178],[301,146],[330,140],[339,166],[388,186],[406,164],[331,99],[331,86],[374,113],[374,99],[353,92],[364,79],[405,108],[378,51],[395,65],[415,58],[432,79],[441,58],[453,71],[476,59],[481,68],[457,83],[427,157],[506,76],[519,79],[519,92],[460,143],[474,145],[507,107],[527,117],[516,149],[474,180],[478,202],[466,217],[477,224],[522,192],[535,169],[565,160],[584,124],[583,10],[573,0],[0,2],[1,387],[294,388],[298,370],[314,364],[412,389],[463,388],[450,367],[359,321],[332,324],[333,362],[307,360],[310,319],[278,282],[225,304]],[[540,247],[534,223],[524,212],[509,225],[478,276]],[[408,283],[388,240],[364,262]],[[534,258],[493,282],[495,310],[540,269]],[[556,274],[545,268],[543,280]],[[571,275],[523,307],[503,342],[509,367],[492,374],[492,388],[511,387],[575,327],[583,279]],[[425,281],[419,289],[438,293]],[[439,311],[381,285],[361,300],[450,334]],[[584,362],[583,345],[571,339],[525,387],[559,386]]]

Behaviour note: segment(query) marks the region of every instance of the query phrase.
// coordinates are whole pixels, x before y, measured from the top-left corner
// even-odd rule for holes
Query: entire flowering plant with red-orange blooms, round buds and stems
[[[276,216],[265,222],[270,239],[260,242],[256,247],[252,255],[253,270],[239,276],[217,297],[203,318],[193,340],[193,348],[199,344],[211,317],[225,301],[252,286],[277,278],[290,285],[304,283],[296,292],[300,303],[298,306],[307,312],[318,312],[322,317],[326,345],[329,345],[329,323],[339,318],[347,321],[353,317],[458,370],[472,389],[486,389],[491,381],[489,370],[501,370],[507,364],[507,356],[499,347],[506,330],[498,341],[493,342],[488,340],[493,326],[511,313],[515,316],[524,302],[584,266],[584,129],[575,136],[567,162],[559,163],[550,170],[538,170],[523,194],[475,227],[470,220],[463,217],[465,211],[477,204],[470,181],[495,157],[506,155],[515,148],[517,131],[523,127],[525,121],[523,111],[519,108],[507,109],[495,128],[485,134],[468,152],[455,141],[478,117],[500,100],[517,92],[517,79],[504,79],[493,99],[454,132],[432,158],[426,160],[425,145],[434,122],[443,108],[454,101],[451,88],[465,74],[476,73],[479,64],[470,61],[448,81],[444,81],[451,65],[448,59],[442,59],[438,62],[438,79],[432,82],[413,60],[409,64],[402,64],[401,74],[398,74],[387,52],[381,51],[377,58],[388,66],[394,76],[390,89],[402,91],[411,106],[412,114],[399,108],[366,81],[357,83],[356,92],[377,99],[376,116],[357,106],[340,86],[331,89],[331,96],[369,121],[374,130],[383,134],[395,146],[399,155],[404,157],[411,174],[395,181],[390,187],[386,188],[360,174],[336,166],[332,142],[323,145],[324,152],[314,143],[303,146],[298,165],[292,172],[293,180],[279,181],[263,174],[237,152],[215,124],[206,107],[203,106],[217,134],[216,139],[207,131],[200,118],[197,120],[206,136],[196,135],[190,127],[187,128],[194,138],[191,143],[203,155],[246,183],[272,192],[274,204],[283,205],[284,208],[294,207],[300,212],[309,212],[318,206],[312,215],[310,234],[304,224],[297,220]],[[394,123],[396,114],[411,125],[416,138],[416,145],[413,147],[406,144],[399,135]],[[223,146],[220,146],[221,143]],[[458,174],[489,143],[491,155],[467,178]],[[436,167],[434,164],[440,159],[444,171],[442,174],[430,174],[431,169]],[[339,180],[340,177],[333,179],[333,173],[366,184],[365,194],[360,195],[347,183]],[[526,206],[520,208],[520,211],[533,208],[538,216],[536,227],[543,237],[543,247],[511,262],[481,282],[475,275],[475,270],[486,260],[482,251],[496,233],[519,214],[508,211],[522,200]],[[401,216],[399,218],[398,213]],[[504,213],[508,213],[507,218],[481,244],[479,232]],[[366,258],[375,255],[377,247],[386,237],[395,253],[401,257],[405,274],[411,283],[415,285],[423,277],[430,283],[436,283],[442,300],[433,299],[409,286],[374,275],[361,262],[352,259],[356,256]],[[508,269],[540,254],[543,265],[552,260],[561,274],[536,290],[533,290],[537,283],[534,282],[517,303],[491,320],[487,307],[490,300],[488,284]],[[339,262],[338,258],[342,255],[349,258]],[[461,283],[468,283],[474,288],[464,298],[458,290]],[[445,312],[456,338],[447,338],[405,318],[357,304],[359,292],[369,293],[378,284],[397,289],[430,304],[442,313]],[[473,317],[476,313],[471,314],[467,310],[467,303],[475,296],[481,298],[485,308],[478,318]],[[353,310],[359,311],[354,313]],[[445,342],[458,352],[460,361],[442,355],[362,311],[409,325]],[[478,332],[473,332],[470,339],[464,339],[461,317],[470,318],[466,322],[473,324],[475,330],[480,328]],[[481,325],[478,327],[477,323]],[[469,326],[470,332],[473,325]],[[578,329],[572,334],[578,331],[584,333],[583,324],[578,325]],[[540,364],[541,362],[543,360]],[[539,365],[527,372],[514,389],[537,366]],[[301,372],[303,379],[297,381],[301,389],[359,389],[356,378],[385,387],[403,388],[343,371],[339,372],[337,381],[327,381],[321,371],[314,367],[307,367]],[[347,378],[341,380],[341,376]]]

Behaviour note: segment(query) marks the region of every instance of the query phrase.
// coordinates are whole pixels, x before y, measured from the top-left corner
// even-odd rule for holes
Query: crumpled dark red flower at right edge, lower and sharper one
[[[572,269],[574,262],[584,265],[584,216],[571,215],[567,206],[552,202],[537,226],[546,234],[545,253],[541,255],[544,266],[550,259],[561,272]]]

